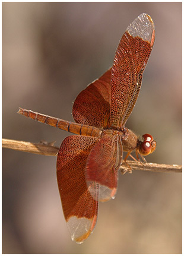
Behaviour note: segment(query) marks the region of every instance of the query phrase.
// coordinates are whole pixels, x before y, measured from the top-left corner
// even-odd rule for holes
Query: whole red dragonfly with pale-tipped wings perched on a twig
[[[77,96],[75,122],[19,109],[18,113],[78,135],[66,137],[58,151],[57,178],[62,208],[72,240],[84,242],[97,222],[99,201],[115,198],[118,170],[135,150],[137,158],[152,153],[156,141],[142,140],[125,127],[141,89],[142,73],[155,39],[148,14],[141,14],[120,39],[112,68]],[[129,167],[131,172],[131,167]]]

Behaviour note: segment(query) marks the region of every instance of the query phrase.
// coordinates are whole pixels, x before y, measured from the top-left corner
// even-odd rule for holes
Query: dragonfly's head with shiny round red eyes
[[[142,156],[147,156],[148,154],[153,153],[156,146],[157,143],[153,137],[150,134],[144,134],[142,135],[142,141],[139,141],[137,150]]]

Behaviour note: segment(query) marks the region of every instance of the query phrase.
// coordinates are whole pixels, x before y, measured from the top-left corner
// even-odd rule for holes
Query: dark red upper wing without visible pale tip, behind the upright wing
[[[75,122],[93,127],[106,127],[110,117],[111,68],[81,91],[75,99],[72,115]]]

